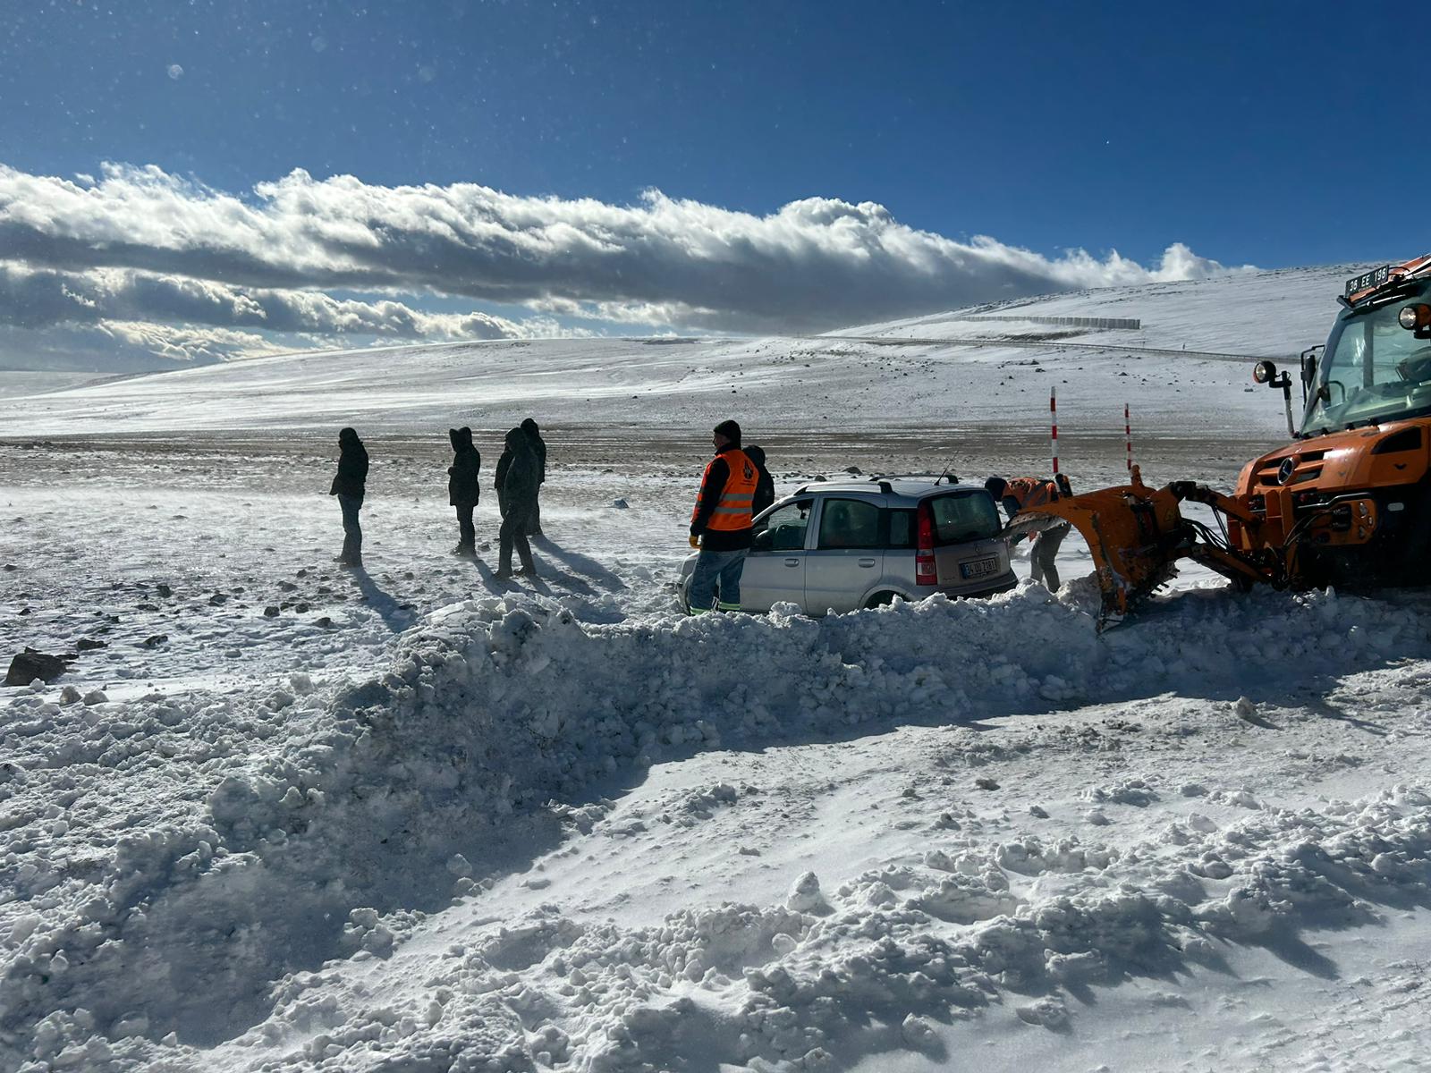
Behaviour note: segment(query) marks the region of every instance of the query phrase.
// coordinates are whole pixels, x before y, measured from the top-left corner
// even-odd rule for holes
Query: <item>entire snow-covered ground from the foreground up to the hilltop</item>
[[[1421,1067],[1424,597],[1189,572],[1098,635],[1076,541],[1056,597],[685,619],[667,588],[728,415],[783,489],[982,479],[1046,465],[1056,382],[1080,485],[1120,479],[1126,401],[1149,481],[1225,486],[1279,399],[1182,346],[1295,352],[1342,275],[1046,299],[1145,325],[1047,349],[960,320],[1002,308],[839,335],[1003,345],[497,343],[0,402],[0,651],[102,645],[0,710],[0,1070]],[[504,585],[491,502],[446,554],[445,429],[489,474],[528,413],[550,539]],[[331,562],[342,423],[363,572]]]

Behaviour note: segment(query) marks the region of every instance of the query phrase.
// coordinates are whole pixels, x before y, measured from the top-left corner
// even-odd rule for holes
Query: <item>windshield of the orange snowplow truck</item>
[[[1431,339],[1417,339],[1397,323],[1418,295],[1344,316],[1327,340],[1327,355],[1302,419],[1302,435],[1335,432],[1431,412]]]

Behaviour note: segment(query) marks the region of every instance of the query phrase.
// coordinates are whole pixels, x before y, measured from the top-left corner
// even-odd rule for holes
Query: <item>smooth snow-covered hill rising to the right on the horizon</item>
[[[0,402],[6,435],[189,429],[431,432],[565,426],[704,429],[730,413],[760,431],[1146,429],[1275,435],[1281,408],[1251,391],[1254,358],[1325,339],[1349,268],[1113,288],[851,328],[831,338],[551,339],[308,352],[135,376]],[[1141,330],[1060,329],[970,316],[1136,318]],[[877,345],[860,338],[989,340]],[[1005,345],[999,345],[1003,340]],[[1186,352],[1186,353],[1185,353]],[[1239,358],[1248,355],[1248,358]],[[711,415],[716,415],[713,418]]]

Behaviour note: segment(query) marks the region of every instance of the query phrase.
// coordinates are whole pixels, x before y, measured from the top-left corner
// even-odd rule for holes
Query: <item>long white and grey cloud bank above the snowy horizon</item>
[[[152,166],[62,179],[0,165],[0,346],[67,333],[96,353],[222,361],[590,330],[577,322],[819,332],[1228,270],[1182,243],[1151,268],[1116,252],[1050,259],[830,197],[756,216],[658,190],[621,206],[302,170],[239,196]],[[422,308],[454,299],[529,316]]]

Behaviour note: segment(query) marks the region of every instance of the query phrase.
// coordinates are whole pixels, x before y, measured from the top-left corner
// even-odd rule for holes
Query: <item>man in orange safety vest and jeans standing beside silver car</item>
[[[700,548],[691,575],[693,615],[740,611],[740,575],[750,551],[751,505],[760,471],[740,449],[740,425],[723,421],[711,435],[716,458],[705,465],[691,511],[691,547]],[[720,589],[720,604],[716,591]]]

